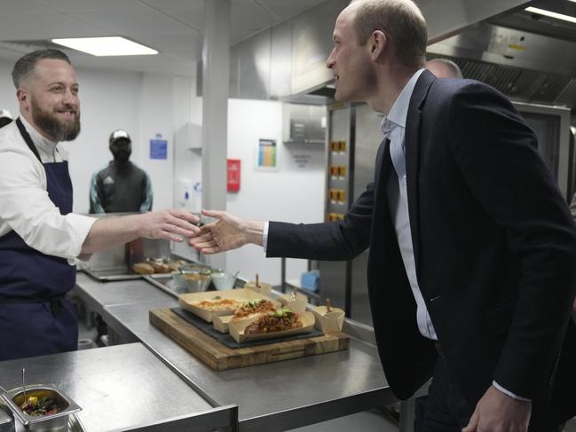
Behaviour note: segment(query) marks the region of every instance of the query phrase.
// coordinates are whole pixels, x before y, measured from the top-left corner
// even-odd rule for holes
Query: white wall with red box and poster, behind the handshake
[[[228,158],[241,160],[241,190],[228,193],[227,210],[247,219],[283,222],[321,222],[324,214],[325,153],[323,146],[282,144],[282,104],[276,101],[230,99],[228,103]],[[255,168],[259,138],[275,139],[278,170]],[[310,161],[300,169],[296,154],[307,154]],[[262,247],[246,246],[228,252],[230,271],[280,284],[280,258],[265,258]],[[299,279],[307,270],[305,260],[288,260],[287,279]]]

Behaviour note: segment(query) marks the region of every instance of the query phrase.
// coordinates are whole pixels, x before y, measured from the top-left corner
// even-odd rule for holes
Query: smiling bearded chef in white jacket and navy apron
[[[33,51],[12,70],[20,117],[0,129],[0,360],[77,348],[67,293],[75,260],[140,237],[183,241],[198,218],[178,210],[92,218],[72,212],[61,141],[80,132],[79,84],[67,55]]]

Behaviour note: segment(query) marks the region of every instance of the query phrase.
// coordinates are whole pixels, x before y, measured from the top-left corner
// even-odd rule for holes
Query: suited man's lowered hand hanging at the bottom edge
[[[532,402],[514,399],[490,386],[462,432],[526,432]]]

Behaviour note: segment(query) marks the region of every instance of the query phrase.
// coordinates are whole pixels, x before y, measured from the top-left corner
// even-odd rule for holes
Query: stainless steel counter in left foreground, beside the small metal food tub
[[[22,366],[28,384],[53,383],[72,397],[88,431],[159,422],[211,431],[236,420],[235,407],[213,408],[140,343],[0,362],[4,388],[21,385]]]

